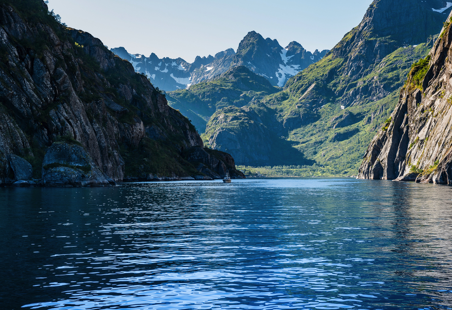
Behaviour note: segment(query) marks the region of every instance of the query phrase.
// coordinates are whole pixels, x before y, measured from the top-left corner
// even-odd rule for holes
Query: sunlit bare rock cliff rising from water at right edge
[[[362,179],[452,184],[452,17],[425,59],[411,67],[399,102],[375,135]]]

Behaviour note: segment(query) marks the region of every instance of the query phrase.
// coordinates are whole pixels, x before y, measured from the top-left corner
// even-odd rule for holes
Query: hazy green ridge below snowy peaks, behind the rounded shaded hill
[[[241,107],[276,92],[278,89],[267,79],[245,66],[237,66],[187,90],[169,92],[167,98],[173,108],[181,111],[203,133],[216,110],[231,105]]]

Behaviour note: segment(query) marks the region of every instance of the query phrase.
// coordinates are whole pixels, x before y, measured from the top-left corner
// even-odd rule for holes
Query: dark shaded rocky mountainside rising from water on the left
[[[0,184],[243,177],[145,76],[43,1],[2,0],[0,24]]]

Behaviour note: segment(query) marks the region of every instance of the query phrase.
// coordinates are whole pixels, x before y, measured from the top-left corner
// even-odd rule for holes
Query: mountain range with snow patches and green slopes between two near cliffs
[[[441,0],[375,0],[331,51],[310,53],[296,42],[283,49],[254,31],[237,52],[194,64],[112,51],[151,81],[162,68],[183,68],[187,83],[180,89],[162,84],[169,104],[206,146],[231,153],[237,164],[286,166],[299,176],[357,175],[411,65],[429,54],[450,11]],[[161,81],[177,81],[171,74]]]

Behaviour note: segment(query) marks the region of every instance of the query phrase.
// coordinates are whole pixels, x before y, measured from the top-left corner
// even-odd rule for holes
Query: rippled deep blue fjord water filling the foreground
[[[452,308],[452,188],[0,188],[1,309]]]

